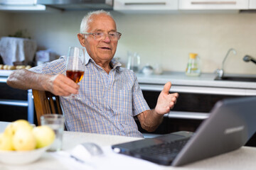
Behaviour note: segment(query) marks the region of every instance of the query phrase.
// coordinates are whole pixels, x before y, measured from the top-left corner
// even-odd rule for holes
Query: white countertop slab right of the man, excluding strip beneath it
[[[226,76],[256,77],[255,75],[225,74]],[[199,77],[188,77],[185,72],[164,72],[164,74],[137,74],[139,84],[166,84],[171,81],[174,86],[209,86],[238,89],[256,89],[255,82],[216,81],[216,74],[201,74]]]

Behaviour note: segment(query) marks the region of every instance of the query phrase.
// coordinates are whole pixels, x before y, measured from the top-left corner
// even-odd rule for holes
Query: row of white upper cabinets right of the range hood
[[[255,8],[256,0],[114,0],[114,11],[238,11]]]

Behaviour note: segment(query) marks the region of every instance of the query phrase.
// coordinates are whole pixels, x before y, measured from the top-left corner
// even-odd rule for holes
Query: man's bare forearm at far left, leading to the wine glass
[[[20,69],[12,72],[6,83],[16,89],[47,90],[46,79],[49,79],[49,76],[46,74],[38,74],[26,69]]]

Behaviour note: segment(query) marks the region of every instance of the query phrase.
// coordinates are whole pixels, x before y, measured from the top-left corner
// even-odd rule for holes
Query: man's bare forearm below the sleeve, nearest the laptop
[[[153,132],[163,121],[163,115],[156,113],[155,109],[144,111],[138,115],[142,128],[148,132]]]

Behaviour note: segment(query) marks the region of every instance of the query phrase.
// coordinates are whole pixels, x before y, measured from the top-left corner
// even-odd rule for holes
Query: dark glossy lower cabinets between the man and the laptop
[[[139,84],[146,102],[149,108],[153,109],[156,107],[156,101],[161,93],[161,89],[149,89],[149,84]],[[146,85],[146,86],[145,86]],[[191,132],[196,131],[198,126],[208,118],[210,110],[213,108],[215,103],[224,98],[238,98],[242,97],[242,94],[222,94],[216,93],[216,89],[213,89],[215,93],[198,93],[198,91],[190,90],[176,90],[175,85],[171,90],[171,93],[178,92],[178,100],[174,108],[164,115],[164,122],[154,133],[169,133],[180,130],[188,130]],[[256,95],[255,95],[256,96]],[[144,131],[142,131],[144,132]]]

